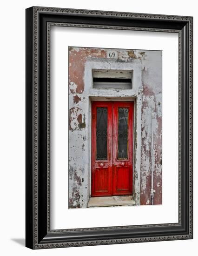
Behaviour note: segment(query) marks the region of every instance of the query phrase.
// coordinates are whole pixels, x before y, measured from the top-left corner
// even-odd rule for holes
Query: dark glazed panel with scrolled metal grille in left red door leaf
[[[107,160],[107,108],[97,108],[96,160]]]

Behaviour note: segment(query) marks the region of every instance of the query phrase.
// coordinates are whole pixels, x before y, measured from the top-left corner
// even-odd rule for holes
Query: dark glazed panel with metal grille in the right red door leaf
[[[118,109],[118,159],[128,158],[128,108]]]

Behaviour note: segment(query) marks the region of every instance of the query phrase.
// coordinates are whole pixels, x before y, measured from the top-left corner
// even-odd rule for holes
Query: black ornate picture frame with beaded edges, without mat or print
[[[178,34],[178,223],[50,229],[50,27]],[[30,7],[26,9],[26,247],[46,249],[192,239],[193,18]]]

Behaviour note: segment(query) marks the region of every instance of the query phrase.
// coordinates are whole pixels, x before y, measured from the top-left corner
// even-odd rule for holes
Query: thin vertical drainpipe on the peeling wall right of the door
[[[153,204],[153,199],[154,199],[154,193],[155,190],[153,190],[153,172],[155,168],[155,156],[154,156],[154,129],[155,129],[155,113],[152,111],[152,147],[151,147],[151,204]]]

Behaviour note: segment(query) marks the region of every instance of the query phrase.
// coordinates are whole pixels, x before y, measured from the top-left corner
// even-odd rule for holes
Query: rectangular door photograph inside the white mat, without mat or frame
[[[68,208],[162,204],[162,51],[68,47],[68,94]]]

